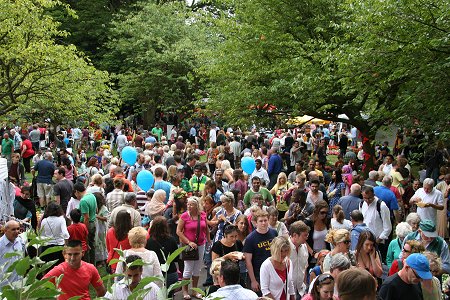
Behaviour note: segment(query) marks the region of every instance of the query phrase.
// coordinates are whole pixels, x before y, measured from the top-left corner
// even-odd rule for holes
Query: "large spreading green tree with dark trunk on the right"
[[[381,126],[438,111],[445,120],[447,1],[255,0],[233,5],[234,15],[212,19],[224,42],[203,63],[211,80],[209,104],[218,109],[226,103],[222,110],[228,119],[253,122],[248,108],[269,103],[285,115],[349,123],[364,136],[366,172]]]

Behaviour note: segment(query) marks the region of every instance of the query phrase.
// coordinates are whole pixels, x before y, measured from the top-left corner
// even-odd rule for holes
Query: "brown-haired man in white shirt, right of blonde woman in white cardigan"
[[[309,236],[309,227],[303,221],[292,223],[289,228],[289,241],[291,243],[292,280],[294,281],[295,295],[297,299],[303,297],[306,292],[304,279],[308,268],[308,247],[306,241]]]

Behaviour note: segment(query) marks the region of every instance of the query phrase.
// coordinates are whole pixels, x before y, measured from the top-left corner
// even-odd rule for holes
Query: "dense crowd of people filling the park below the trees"
[[[164,279],[146,286],[145,299],[180,280],[190,280],[183,299],[201,299],[189,289],[200,285],[208,299],[235,300],[441,299],[450,289],[443,163],[442,176],[431,178],[431,170],[420,180],[404,153],[394,157],[383,145],[364,177],[356,128],[338,132],[333,124],[270,134],[214,124],[209,132],[197,124],[108,132],[71,128],[49,140],[37,124],[3,135],[0,211],[14,220],[5,220],[0,265],[63,246],[42,256],[57,261],[43,276],[60,299],[87,299],[89,286],[126,299],[151,276]],[[122,158],[127,146],[138,153],[134,163]],[[332,147],[339,148],[333,164]],[[244,172],[248,157],[254,167]],[[153,174],[151,189],[139,184],[143,170]],[[37,253],[19,236],[24,222],[43,237]],[[4,256],[14,251],[22,256]],[[119,274],[108,293],[103,266]],[[0,286],[19,279],[12,272]]]

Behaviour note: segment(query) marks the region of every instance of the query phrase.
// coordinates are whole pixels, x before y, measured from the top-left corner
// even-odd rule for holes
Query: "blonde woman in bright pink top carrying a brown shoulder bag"
[[[200,231],[197,238],[198,220],[200,220]],[[209,229],[206,225],[206,214],[201,208],[198,197],[188,198],[187,211],[180,216],[180,220],[178,221],[177,235],[179,236],[181,243],[189,245],[194,249],[198,249],[199,259],[184,261],[183,272],[183,280],[189,280],[192,277],[192,287],[196,288],[200,271],[203,267],[205,244],[207,241],[208,243],[211,243]],[[202,298],[202,295],[195,292],[193,296],[198,299]],[[183,299],[191,299],[187,285],[183,286]]]

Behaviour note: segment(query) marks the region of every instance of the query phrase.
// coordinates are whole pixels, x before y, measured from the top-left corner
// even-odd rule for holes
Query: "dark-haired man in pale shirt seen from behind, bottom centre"
[[[222,300],[254,300],[258,295],[239,284],[239,265],[231,260],[221,263],[218,276],[220,289],[208,296],[207,299]]]

